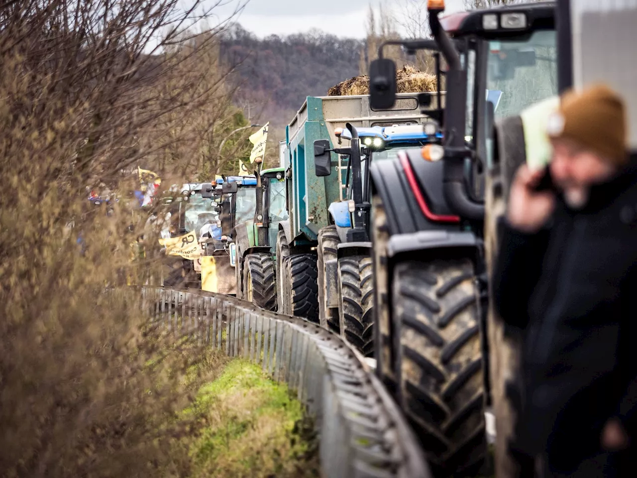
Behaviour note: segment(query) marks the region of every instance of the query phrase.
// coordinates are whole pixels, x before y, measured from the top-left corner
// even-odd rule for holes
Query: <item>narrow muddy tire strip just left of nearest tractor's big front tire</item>
[[[376,373],[392,395],[395,395],[397,378],[392,367],[392,335],[389,314],[389,280],[387,277],[387,243],[389,229],[387,214],[380,196],[371,202],[373,245],[373,296],[374,296],[374,349]]]

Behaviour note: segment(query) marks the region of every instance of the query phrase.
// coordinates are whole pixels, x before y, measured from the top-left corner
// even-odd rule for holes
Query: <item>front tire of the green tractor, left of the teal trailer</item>
[[[261,308],[275,310],[275,264],[270,254],[258,252],[243,259],[243,297]]]

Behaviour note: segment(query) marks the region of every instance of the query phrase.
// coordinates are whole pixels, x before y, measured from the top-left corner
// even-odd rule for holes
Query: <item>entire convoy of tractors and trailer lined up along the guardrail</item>
[[[489,300],[513,173],[548,161],[540,133],[559,92],[603,79],[637,106],[622,57],[635,33],[605,31],[620,13],[576,0],[428,10],[432,38],[381,45],[369,94],[306,98],[278,168],[183,185],[169,232],[194,231],[203,252],[175,258],[164,284],[340,334],[374,359],[434,475],[473,476],[487,456],[485,409],[498,440],[514,414],[517,345]],[[592,43],[583,28],[603,34]],[[428,50],[434,91],[397,92],[387,45]]]

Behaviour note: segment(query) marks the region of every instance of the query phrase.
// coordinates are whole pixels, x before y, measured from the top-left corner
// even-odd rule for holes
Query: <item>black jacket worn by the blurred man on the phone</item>
[[[522,340],[514,446],[568,471],[599,450],[608,418],[634,429],[637,167],[592,187],[582,210],[558,199],[539,233],[504,224],[500,244],[495,306]]]

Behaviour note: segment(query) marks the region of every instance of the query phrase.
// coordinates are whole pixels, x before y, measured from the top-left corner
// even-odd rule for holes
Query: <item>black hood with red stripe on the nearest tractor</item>
[[[403,161],[407,162],[415,180],[413,185],[428,211],[437,216],[454,215],[443,192],[443,161],[424,161],[419,152],[401,152],[394,159],[372,162],[369,170],[373,194],[380,196],[387,214],[389,235],[429,230],[459,231],[457,222],[437,221],[426,216],[410,185]]]

